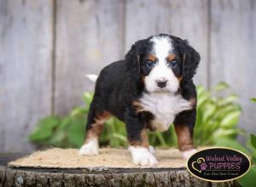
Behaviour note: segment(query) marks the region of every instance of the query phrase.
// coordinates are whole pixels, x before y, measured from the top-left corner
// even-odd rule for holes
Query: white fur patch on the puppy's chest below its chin
[[[154,115],[151,126],[160,131],[166,131],[178,113],[192,108],[191,102],[179,94],[144,94],[140,101],[143,109]]]

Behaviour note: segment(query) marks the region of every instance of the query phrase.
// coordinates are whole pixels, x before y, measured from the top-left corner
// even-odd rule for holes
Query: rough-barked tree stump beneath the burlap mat
[[[239,186],[236,181],[212,183],[185,168],[10,168],[20,154],[0,154],[0,186]]]

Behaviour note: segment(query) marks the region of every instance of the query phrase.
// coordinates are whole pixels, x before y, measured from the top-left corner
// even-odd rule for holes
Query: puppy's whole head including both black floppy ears
[[[194,77],[200,55],[186,40],[159,34],[139,40],[125,56],[133,81],[148,93],[177,93],[183,79]]]

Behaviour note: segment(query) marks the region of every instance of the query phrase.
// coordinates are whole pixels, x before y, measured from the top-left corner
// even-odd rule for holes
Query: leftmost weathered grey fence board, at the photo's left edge
[[[50,113],[52,1],[0,0],[0,8],[0,151],[26,151]]]

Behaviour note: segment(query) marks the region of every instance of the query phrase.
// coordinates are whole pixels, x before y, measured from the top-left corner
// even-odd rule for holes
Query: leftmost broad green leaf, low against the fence
[[[49,116],[38,122],[36,129],[29,135],[29,139],[34,142],[39,142],[49,137],[54,133],[54,128],[58,125],[60,119],[57,116]]]

